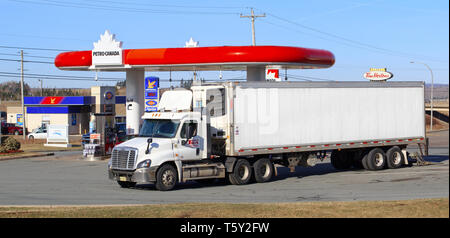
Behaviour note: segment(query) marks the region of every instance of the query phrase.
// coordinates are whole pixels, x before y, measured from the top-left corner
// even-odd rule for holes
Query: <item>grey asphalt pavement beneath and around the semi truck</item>
[[[446,138],[445,138],[446,137]],[[53,157],[0,161],[0,206],[160,204],[185,202],[298,202],[403,200],[449,197],[448,131],[430,136],[428,166],[396,170],[335,170],[329,160],[244,186],[196,182],[178,184],[168,192],[153,185],[123,189],[108,180],[107,161],[83,161],[80,152]],[[443,139],[444,138],[444,139]],[[414,149],[411,149],[414,151]]]

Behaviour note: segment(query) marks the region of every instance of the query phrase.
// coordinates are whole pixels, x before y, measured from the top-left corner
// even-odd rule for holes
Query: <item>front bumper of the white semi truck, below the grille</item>
[[[123,182],[154,183],[158,167],[140,168],[134,171],[108,169],[109,179]]]

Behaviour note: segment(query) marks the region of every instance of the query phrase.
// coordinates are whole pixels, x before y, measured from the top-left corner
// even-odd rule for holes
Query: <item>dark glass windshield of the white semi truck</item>
[[[173,138],[177,133],[179,121],[145,119],[139,133],[140,137]]]

